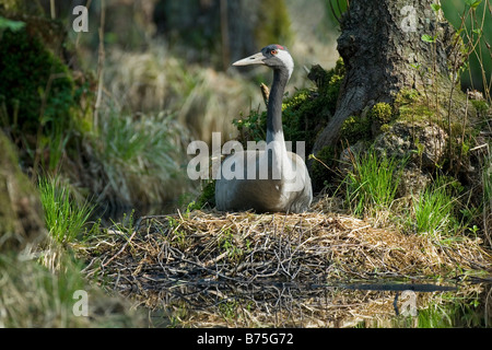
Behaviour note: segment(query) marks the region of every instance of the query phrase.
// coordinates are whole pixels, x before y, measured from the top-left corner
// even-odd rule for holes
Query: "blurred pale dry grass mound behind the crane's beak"
[[[163,43],[145,52],[112,49],[106,69],[107,89],[129,110],[172,110],[194,137],[211,141],[212,132],[233,138],[232,124],[243,110],[261,104],[259,88],[238,74],[186,63]],[[224,140],[225,141],[225,140]]]

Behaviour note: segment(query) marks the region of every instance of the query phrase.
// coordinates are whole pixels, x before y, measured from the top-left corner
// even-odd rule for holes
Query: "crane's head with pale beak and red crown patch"
[[[284,69],[291,78],[294,70],[294,60],[285,46],[272,44],[263,47],[261,51],[234,62],[233,66],[263,65],[272,69]]]

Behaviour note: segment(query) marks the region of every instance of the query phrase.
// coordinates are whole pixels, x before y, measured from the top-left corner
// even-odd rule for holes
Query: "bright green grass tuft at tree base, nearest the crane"
[[[402,162],[379,155],[374,149],[352,156],[352,170],[345,176],[345,203],[355,215],[373,215],[391,207],[400,182]]]

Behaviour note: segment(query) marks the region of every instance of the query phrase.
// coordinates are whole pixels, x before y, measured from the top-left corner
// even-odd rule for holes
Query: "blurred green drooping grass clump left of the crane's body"
[[[92,138],[94,155],[101,164],[99,176],[105,178],[105,190],[98,194],[97,201],[125,206],[162,203],[187,188],[184,162],[189,138],[173,115],[136,118],[108,108],[103,116]]]

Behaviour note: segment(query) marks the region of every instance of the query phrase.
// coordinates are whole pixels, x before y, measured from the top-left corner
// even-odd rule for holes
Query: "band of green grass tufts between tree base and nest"
[[[483,208],[477,209],[462,202],[467,194],[459,182],[438,174],[419,192],[398,197],[405,164],[406,161],[378,154],[373,148],[352,154],[349,172],[339,187],[344,190],[349,213],[375,219],[379,225],[396,225],[403,232],[429,234],[441,243],[459,240],[460,234],[475,235],[480,230],[478,225],[490,240],[492,215],[487,210],[492,207],[492,176],[487,166],[482,176]]]

